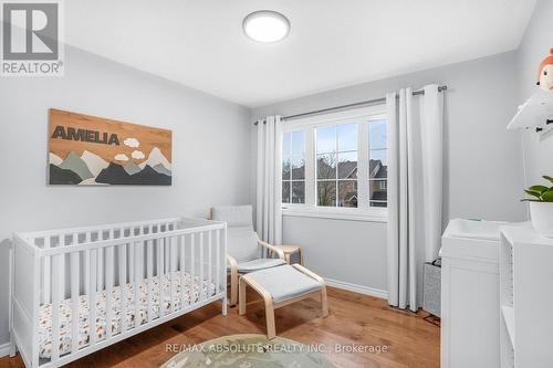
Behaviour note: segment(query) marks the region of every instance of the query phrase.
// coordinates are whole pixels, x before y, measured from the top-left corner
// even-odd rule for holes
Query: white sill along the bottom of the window
[[[388,222],[387,209],[357,210],[357,209],[324,209],[312,207],[282,208],[282,215],[299,218],[316,218],[331,220],[364,221],[364,222]]]

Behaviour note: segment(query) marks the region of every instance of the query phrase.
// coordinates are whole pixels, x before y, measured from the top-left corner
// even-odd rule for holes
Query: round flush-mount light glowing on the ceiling
[[[290,33],[286,17],[272,10],[260,10],[248,14],[242,22],[243,32],[258,42],[276,42]]]

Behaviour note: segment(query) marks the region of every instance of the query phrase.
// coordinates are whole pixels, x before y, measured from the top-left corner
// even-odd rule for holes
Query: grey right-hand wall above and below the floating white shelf
[[[538,67],[553,48],[553,1],[538,1],[519,49],[519,103],[539,91]],[[542,138],[534,132],[524,133],[526,186],[542,182],[542,175],[553,175],[553,132]]]

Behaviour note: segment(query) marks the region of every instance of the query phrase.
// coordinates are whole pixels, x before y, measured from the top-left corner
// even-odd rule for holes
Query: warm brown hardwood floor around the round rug
[[[248,294],[255,299],[255,294]],[[261,301],[248,304],[246,316],[238,308],[223,317],[220,304],[211,304],[168,322],[67,367],[159,367],[175,353],[169,344],[197,344],[234,334],[264,334]],[[417,314],[388,307],[387,302],[372,296],[328,287],[330,316],[319,318],[320,303],[309,298],[275,311],[276,334],[304,344],[325,344],[334,349],[343,346],[380,346],[386,353],[330,353],[325,356],[337,367],[432,368],[439,367],[439,327]],[[1,358],[0,368],[23,367],[21,358]]]

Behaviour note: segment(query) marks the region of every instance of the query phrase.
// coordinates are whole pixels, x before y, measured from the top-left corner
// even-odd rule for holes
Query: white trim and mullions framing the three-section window
[[[283,203],[282,213],[286,217],[324,218],[351,221],[387,222],[387,208],[369,207],[369,198],[359,196],[358,208],[320,207],[316,206],[315,180],[315,135],[314,127],[336,124],[359,123],[359,119],[376,120],[386,117],[386,106],[376,105],[342,111],[317,116],[310,116],[282,123],[282,133],[304,130],[305,134],[305,203]],[[367,124],[359,125],[357,155],[357,188],[359,192],[368,193],[368,144],[366,143]],[[362,164],[363,162],[363,164]],[[365,165],[366,164],[366,165]],[[366,166],[366,168],[364,167]]]

